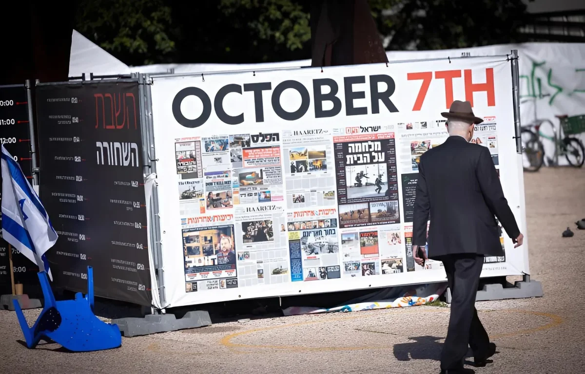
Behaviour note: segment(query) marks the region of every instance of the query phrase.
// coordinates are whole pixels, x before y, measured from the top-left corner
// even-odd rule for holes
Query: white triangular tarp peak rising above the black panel
[[[90,73],[94,75],[130,74],[130,68],[87,37],[73,30],[69,77],[81,77],[83,73],[85,73],[85,79],[90,79]]]

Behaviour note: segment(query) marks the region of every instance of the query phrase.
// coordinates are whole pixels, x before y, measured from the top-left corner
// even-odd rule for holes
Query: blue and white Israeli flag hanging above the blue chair
[[[2,236],[20,253],[46,271],[53,281],[44,254],[57,241],[57,233],[39,196],[26,180],[20,165],[2,145]]]

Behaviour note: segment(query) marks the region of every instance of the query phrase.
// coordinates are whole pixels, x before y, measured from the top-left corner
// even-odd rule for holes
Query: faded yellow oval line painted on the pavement
[[[428,309],[425,311],[448,311],[442,309]],[[490,312],[497,312],[497,311],[505,311],[508,313],[522,313],[522,314],[532,314],[534,316],[541,316],[550,318],[550,322],[548,324],[538,326],[535,328],[529,328],[525,330],[518,330],[512,331],[510,333],[503,333],[503,334],[495,334],[490,335],[492,339],[498,339],[503,337],[511,337],[515,335],[524,335],[524,334],[532,334],[538,331],[548,330],[549,328],[556,327],[557,325],[563,323],[563,319],[555,314],[551,313],[541,313],[536,311],[529,311],[529,310],[518,310],[518,309],[503,309],[503,310],[490,310],[483,313],[490,313]],[[479,311],[481,314],[482,311]],[[259,333],[261,331],[270,331],[276,330],[281,328],[290,328],[290,327],[298,327],[298,326],[305,326],[305,325],[312,325],[312,324],[319,324],[319,323],[327,323],[327,322],[336,322],[336,321],[343,321],[343,320],[350,320],[355,318],[363,318],[364,316],[352,316],[352,317],[342,317],[342,318],[328,318],[326,320],[316,320],[316,321],[308,321],[308,322],[300,322],[300,323],[290,323],[290,324],[283,324],[278,326],[271,326],[271,327],[261,327],[261,328],[252,328],[250,330],[239,331],[238,333],[233,333],[226,335],[223,337],[219,342],[226,348],[232,349],[232,351],[237,352],[239,349],[281,349],[285,351],[359,351],[363,349],[388,349],[391,347],[302,347],[302,346],[294,346],[294,345],[264,345],[264,344],[244,344],[244,343],[235,343],[233,342],[233,338],[248,335],[253,333]]]

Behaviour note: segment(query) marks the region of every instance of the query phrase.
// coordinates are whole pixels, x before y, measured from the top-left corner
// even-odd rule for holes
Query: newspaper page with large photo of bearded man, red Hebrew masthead
[[[238,287],[233,214],[181,219],[185,292]]]

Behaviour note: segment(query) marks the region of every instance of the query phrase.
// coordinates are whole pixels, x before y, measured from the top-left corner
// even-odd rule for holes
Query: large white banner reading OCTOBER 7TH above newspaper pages
[[[169,306],[445,281],[414,263],[412,204],[454,99],[525,232],[505,57],[155,77]],[[482,276],[528,273],[528,245],[501,241]]]

